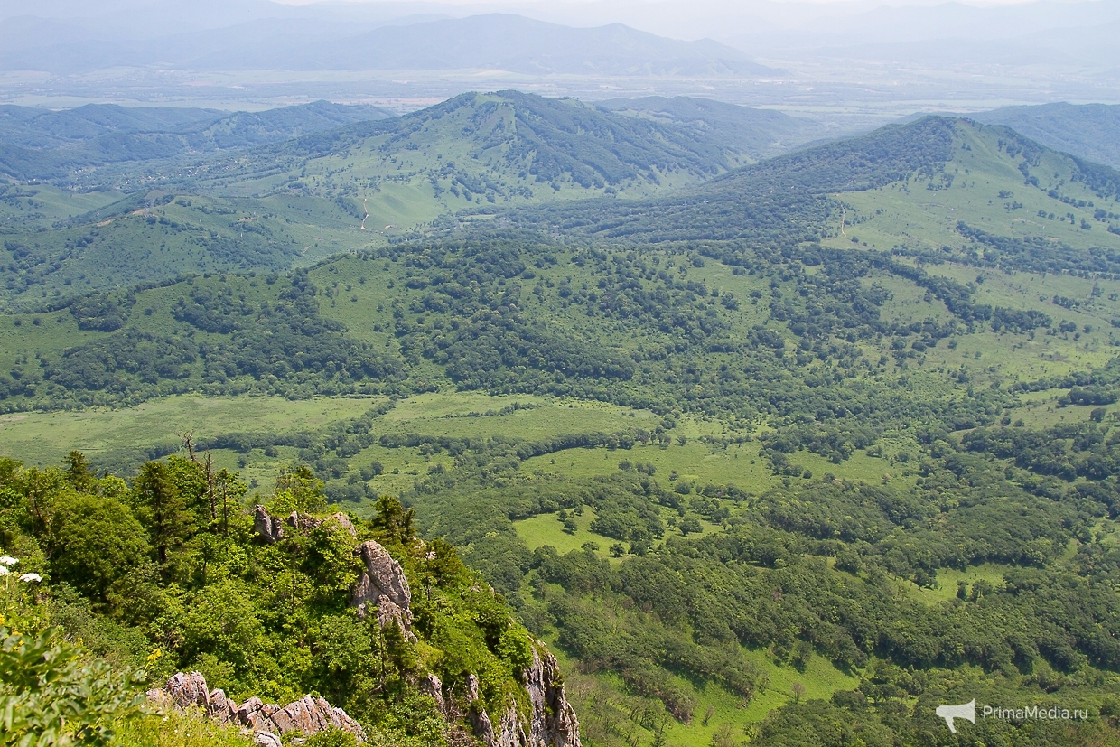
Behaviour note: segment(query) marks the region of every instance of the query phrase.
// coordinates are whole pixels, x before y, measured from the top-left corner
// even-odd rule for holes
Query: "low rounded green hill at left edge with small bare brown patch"
[[[0,200],[7,218],[0,224],[0,305],[16,308],[57,307],[91,291],[179,274],[282,270],[376,241],[363,234],[348,205],[325,199],[162,190],[75,196],[12,185]]]

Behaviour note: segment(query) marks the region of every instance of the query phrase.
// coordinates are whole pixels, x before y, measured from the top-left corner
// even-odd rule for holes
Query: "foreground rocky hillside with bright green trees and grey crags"
[[[248,744],[280,744],[282,734],[319,744],[345,736],[351,745],[362,735],[401,747],[477,738],[496,747],[532,735],[531,747],[580,747],[556,659],[450,544],[420,540],[414,512],[395,499],[383,499],[372,521],[328,513],[321,483],[302,468],[281,471],[267,505],[248,510],[235,474],[194,458],[148,463],[132,486],[99,478],[78,451],[68,465],[46,473],[52,487],[35,494],[39,473],[0,459],[0,488],[12,498],[0,508],[0,548],[20,555],[4,554],[0,566],[19,564],[37,585],[34,595],[6,589],[0,629],[6,655],[18,646],[31,660],[24,672],[46,659],[32,671],[54,664],[52,679],[69,683],[83,665],[95,667],[100,678],[82,702],[100,708],[75,709],[59,723],[9,718],[7,737],[81,737],[114,726],[128,734],[130,721],[157,720],[171,700],[202,711],[188,719],[233,727],[231,741],[244,728]],[[35,646],[28,634],[66,659],[25,653]],[[88,650],[59,645],[63,636]],[[193,673],[167,679],[180,667]],[[146,683],[164,682],[170,692],[149,691],[150,711],[122,707]],[[123,691],[118,702],[101,702],[111,688]],[[6,694],[65,702],[44,690],[20,678]],[[262,699],[292,704],[280,711]]]

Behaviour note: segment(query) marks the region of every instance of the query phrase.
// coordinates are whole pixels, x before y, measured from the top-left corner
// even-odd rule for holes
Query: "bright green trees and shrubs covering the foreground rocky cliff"
[[[2,487],[11,499],[0,517],[13,543],[45,543],[47,569],[69,583],[37,588],[20,604],[56,618],[71,636],[88,636],[90,653],[99,659],[92,664],[88,654],[55,638],[32,644],[12,634],[4,651],[22,659],[0,672],[0,697],[6,682],[13,697],[31,697],[20,693],[34,690],[28,678],[38,670],[25,667],[25,660],[57,659],[69,669],[44,670],[41,688],[54,678],[60,690],[32,692],[43,699],[43,722],[13,722],[4,734],[22,738],[37,729],[47,737],[27,744],[66,744],[56,739],[60,727],[50,721],[62,713],[75,739],[104,743],[109,726],[124,718],[118,695],[136,692],[127,673],[137,661],[152,667],[155,681],[174,671],[202,671],[237,700],[288,702],[318,692],[358,718],[373,744],[446,744],[446,720],[417,689],[427,672],[456,691],[476,675],[475,707],[494,718],[510,706],[530,707],[521,678],[539,644],[451,544],[416,538],[414,511],[395,498],[383,498],[373,521],[352,519],[351,526],[325,515],[323,483],[308,468],[284,470],[265,503],[298,521],[286,525],[281,541],[265,544],[250,531],[243,506],[224,510],[224,492],[240,496],[244,486],[228,473],[214,473],[209,463],[178,456],[147,463],[124,489],[118,478],[93,477],[78,452],[67,464],[67,471],[41,473],[4,463]],[[39,503],[45,525],[27,508]],[[372,538],[385,542],[404,568],[419,638],[395,624],[381,627],[376,615],[362,619],[349,604],[360,571],[354,548]],[[10,573],[2,576],[10,580]],[[21,703],[8,710],[9,718],[29,718]],[[136,739],[150,730],[124,726]],[[346,738],[319,740],[334,745]]]

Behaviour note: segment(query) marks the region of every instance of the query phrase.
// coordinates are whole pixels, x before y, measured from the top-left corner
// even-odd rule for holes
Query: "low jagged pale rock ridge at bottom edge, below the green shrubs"
[[[223,691],[207,690],[206,679],[199,672],[179,672],[167,681],[165,689],[149,690],[148,698],[183,710],[199,708],[218,723],[234,723],[251,731],[253,740],[265,747],[279,747],[280,736],[288,732],[310,736],[330,729],[348,731],[360,743],[365,741],[362,726],[323,698],[306,695],[283,707],[250,698],[237,706]]]

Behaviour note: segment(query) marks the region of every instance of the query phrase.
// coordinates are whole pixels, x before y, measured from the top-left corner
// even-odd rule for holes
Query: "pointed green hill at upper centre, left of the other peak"
[[[255,151],[248,165],[215,166],[214,175],[239,192],[286,187],[298,170],[302,188],[316,194],[357,195],[370,185],[408,181],[437,199],[450,192],[493,203],[547,199],[561,189],[648,193],[663,180],[710,178],[738,157],[712,133],[504,91],[299,138]]]

